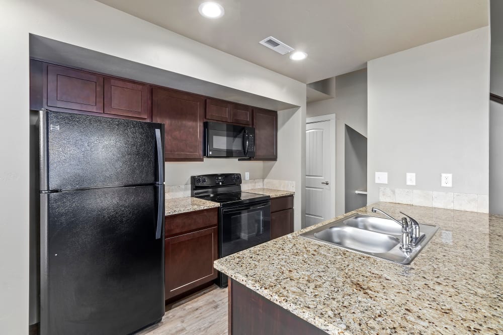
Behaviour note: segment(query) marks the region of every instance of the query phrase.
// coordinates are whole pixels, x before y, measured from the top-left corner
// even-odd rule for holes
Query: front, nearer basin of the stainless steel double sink
[[[341,247],[367,253],[385,253],[400,243],[396,237],[353,227],[328,227],[321,232],[314,233],[314,237],[318,240],[338,244]]]

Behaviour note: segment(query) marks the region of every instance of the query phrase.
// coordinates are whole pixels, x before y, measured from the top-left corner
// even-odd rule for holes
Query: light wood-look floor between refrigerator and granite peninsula
[[[173,305],[162,320],[136,335],[227,335],[227,288],[214,285]]]

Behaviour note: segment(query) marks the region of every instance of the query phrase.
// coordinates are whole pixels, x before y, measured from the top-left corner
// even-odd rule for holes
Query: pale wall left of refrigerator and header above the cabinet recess
[[[25,334],[29,33],[302,106],[295,122],[305,113],[306,85],[92,0],[1,0],[0,8],[0,332]],[[302,158],[281,159],[301,175]]]

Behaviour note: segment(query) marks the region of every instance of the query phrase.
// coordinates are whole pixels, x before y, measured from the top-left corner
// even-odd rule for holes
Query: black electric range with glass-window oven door
[[[271,197],[241,191],[239,173],[191,177],[191,195],[220,203],[218,257],[225,257],[271,240]],[[219,273],[217,284],[227,286]]]

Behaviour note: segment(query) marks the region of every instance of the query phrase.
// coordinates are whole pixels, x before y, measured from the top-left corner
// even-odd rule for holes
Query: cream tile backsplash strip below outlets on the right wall
[[[379,187],[379,201],[481,213],[489,212],[489,196],[487,194],[432,192]]]

